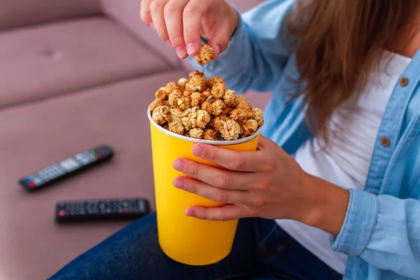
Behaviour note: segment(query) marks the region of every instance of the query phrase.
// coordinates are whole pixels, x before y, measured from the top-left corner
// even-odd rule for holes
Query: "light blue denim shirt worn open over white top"
[[[262,134],[290,154],[311,137],[302,99],[287,103],[299,73],[281,27],[294,4],[260,4],[241,15],[216,61],[200,67],[189,59],[237,92],[273,91]],[[401,78],[408,83],[395,85],[386,106],[365,190],[349,190],[344,224],[331,240],[334,251],[349,255],[344,279],[420,279],[420,51]],[[389,145],[381,144],[383,137]]]

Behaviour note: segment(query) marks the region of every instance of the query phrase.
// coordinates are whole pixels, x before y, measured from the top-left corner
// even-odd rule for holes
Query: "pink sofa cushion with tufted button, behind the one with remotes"
[[[0,108],[169,69],[106,18],[0,32]]]

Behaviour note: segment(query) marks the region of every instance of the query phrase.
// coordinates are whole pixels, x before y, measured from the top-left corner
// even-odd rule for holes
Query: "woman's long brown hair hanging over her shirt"
[[[297,0],[287,27],[306,118],[328,143],[328,120],[363,91],[382,51],[404,31],[419,0]]]

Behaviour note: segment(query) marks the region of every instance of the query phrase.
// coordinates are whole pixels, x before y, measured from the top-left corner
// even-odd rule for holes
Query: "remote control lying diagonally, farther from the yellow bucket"
[[[39,190],[60,179],[64,179],[66,176],[81,172],[100,162],[110,160],[112,156],[113,149],[109,146],[102,145],[97,146],[96,148],[90,148],[87,151],[73,155],[54,165],[45,167],[34,174],[25,176],[25,178],[20,179],[19,183],[26,190]]]

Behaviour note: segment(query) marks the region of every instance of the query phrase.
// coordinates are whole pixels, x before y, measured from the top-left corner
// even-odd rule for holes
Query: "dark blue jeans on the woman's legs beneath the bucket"
[[[214,265],[168,258],[158,244],[155,214],[131,223],[63,267],[50,280],[342,279],[272,220],[239,221],[232,252]]]

